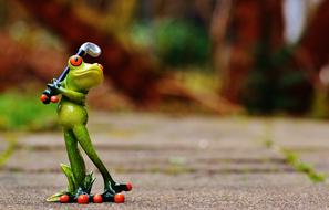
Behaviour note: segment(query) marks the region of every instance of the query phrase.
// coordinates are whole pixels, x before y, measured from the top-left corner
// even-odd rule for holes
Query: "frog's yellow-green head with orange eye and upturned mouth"
[[[84,63],[82,57],[73,55],[68,61],[70,72],[66,76],[66,88],[88,92],[103,82],[103,66],[97,63]]]

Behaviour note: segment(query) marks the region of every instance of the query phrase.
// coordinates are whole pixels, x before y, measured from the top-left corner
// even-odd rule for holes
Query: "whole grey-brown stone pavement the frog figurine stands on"
[[[31,133],[0,135],[0,153],[10,154],[0,209],[329,209],[329,186],[296,171],[277,149],[328,174],[329,123],[92,113],[89,128],[113,177],[133,182],[124,204],[47,203],[66,188],[65,147],[61,133]],[[13,153],[8,138],[17,139]],[[96,177],[93,192],[101,192]]]

